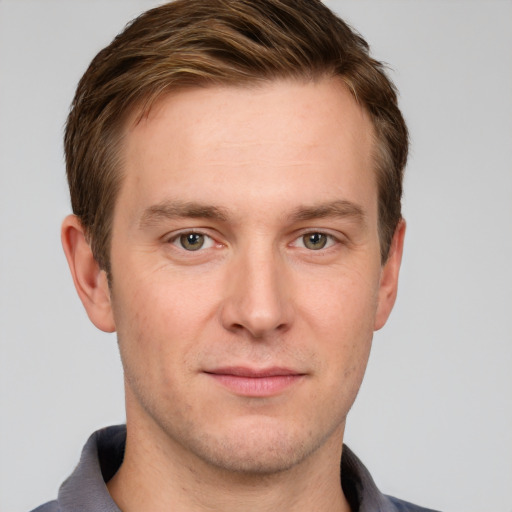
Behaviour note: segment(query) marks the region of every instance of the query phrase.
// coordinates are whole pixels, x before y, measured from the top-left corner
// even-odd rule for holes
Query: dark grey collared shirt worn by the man
[[[58,497],[33,512],[121,512],[108,482],[123,461],[124,425],[95,432],[82,450],[78,466],[61,485]],[[382,494],[363,463],[343,447],[341,485],[352,512],[435,512]]]

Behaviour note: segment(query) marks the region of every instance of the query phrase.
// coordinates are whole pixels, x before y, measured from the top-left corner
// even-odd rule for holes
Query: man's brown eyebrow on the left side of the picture
[[[194,202],[163,201],[144,210],[139,227],[151,227],[162,220],[176,218],[213,219],[226,221],[226,210],[217,206],[208,206]]]

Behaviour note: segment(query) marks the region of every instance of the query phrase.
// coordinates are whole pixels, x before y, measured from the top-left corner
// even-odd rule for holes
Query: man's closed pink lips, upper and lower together
[[[290,368],[242,366],[216,368],[204,373],[236,395],[260,398],[284,392],[301,381],[305,375]]]

